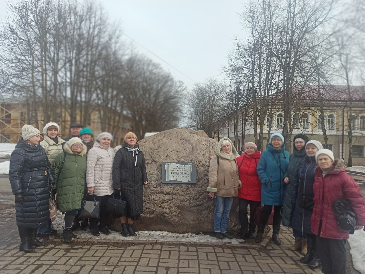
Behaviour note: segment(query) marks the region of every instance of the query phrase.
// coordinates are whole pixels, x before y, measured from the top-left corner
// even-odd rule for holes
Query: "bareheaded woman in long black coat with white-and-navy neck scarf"
[[[139,150],[137,140],[133,132],[128,132],[113,163],[113,188],[121,190],[122,199],[128,204],[128,215],[120,217],[123,236],[137,235],[132,224],[143,213],[143,185],[148,184],[145,156]]]

